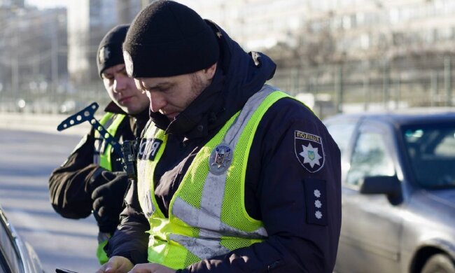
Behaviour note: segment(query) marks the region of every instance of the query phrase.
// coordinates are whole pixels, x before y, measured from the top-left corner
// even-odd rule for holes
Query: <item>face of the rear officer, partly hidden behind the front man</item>
[[[109,97],[130,115],[141,113],[149,104],[147,95],[138,90],[134,80],[128,77],[125,64],[117,64],[102,73],[104,87]]]

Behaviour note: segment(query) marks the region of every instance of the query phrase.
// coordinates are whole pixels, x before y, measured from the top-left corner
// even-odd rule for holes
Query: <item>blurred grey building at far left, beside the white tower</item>
[[[50,111],[68,76],[66,9],[2,1],[0,26],[0,109]]]

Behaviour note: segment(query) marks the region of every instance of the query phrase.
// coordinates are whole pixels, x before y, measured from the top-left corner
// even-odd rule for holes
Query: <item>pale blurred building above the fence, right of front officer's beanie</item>
[[[300,55],[292,65],[454,51],[451,0],[181,2],[217,22],[246,50],[276,49],[279,59]]]

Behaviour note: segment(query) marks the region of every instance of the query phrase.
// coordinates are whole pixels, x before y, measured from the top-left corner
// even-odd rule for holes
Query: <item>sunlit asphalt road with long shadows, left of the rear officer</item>
[[[79,140],[74,135],[0,129],[0,205],[48,273],[56,267],[77,272],[99,268],[94,218],[62,218],[49,202],[49,174]]]

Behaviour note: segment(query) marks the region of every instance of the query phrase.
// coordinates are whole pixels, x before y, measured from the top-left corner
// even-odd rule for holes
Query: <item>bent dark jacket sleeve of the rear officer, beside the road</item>
[[[50,175],[50,202],[55,211],[63,217],[77,219],[91,214],[92,198],[87,186],[90,178],[101,169],[92,164],[93,150],[94,137],[87,134],[62,166]]]

